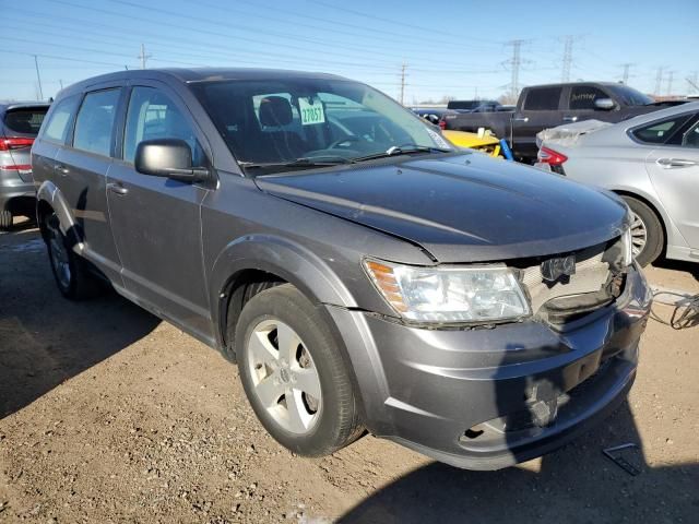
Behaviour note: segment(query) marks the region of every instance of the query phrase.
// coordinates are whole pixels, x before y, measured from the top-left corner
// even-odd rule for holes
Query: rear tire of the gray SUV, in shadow
[[[61,295],[70,300],[84,300],[99,295],[99,282],[90,273],[86,262],[71,249],[55,213],[46,216],[45,230],[51,271]]]

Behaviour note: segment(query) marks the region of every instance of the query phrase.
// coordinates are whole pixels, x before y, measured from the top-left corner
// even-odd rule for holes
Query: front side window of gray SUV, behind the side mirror
[[[183,140],[192,150],[193,165],[205,164],[194,130],[173,99],[155,87],[133,87],[123,135],[123,159],[133,163],[139,143],[154,139]]]

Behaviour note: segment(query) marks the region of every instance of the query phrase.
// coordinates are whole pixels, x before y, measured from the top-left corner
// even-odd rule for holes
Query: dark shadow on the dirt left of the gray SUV
[[[114,291],[64,299],[31,224],[0,236],[0,418],[147,335],[159,319]]]

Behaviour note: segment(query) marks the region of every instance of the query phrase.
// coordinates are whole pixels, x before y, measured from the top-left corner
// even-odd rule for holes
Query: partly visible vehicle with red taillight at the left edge
[[[0,103],[0,229],[15,215],[34,216],[29,151],[48,104]]]

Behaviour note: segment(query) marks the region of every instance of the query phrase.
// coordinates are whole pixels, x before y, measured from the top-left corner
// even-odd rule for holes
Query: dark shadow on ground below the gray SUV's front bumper
[[[518,467],[470,472],[430,463],[392,481],[336,522],[694,522],[699,465],[649,467],[631,476],[602,450],[639,444],[628,405],[559,451]]]

